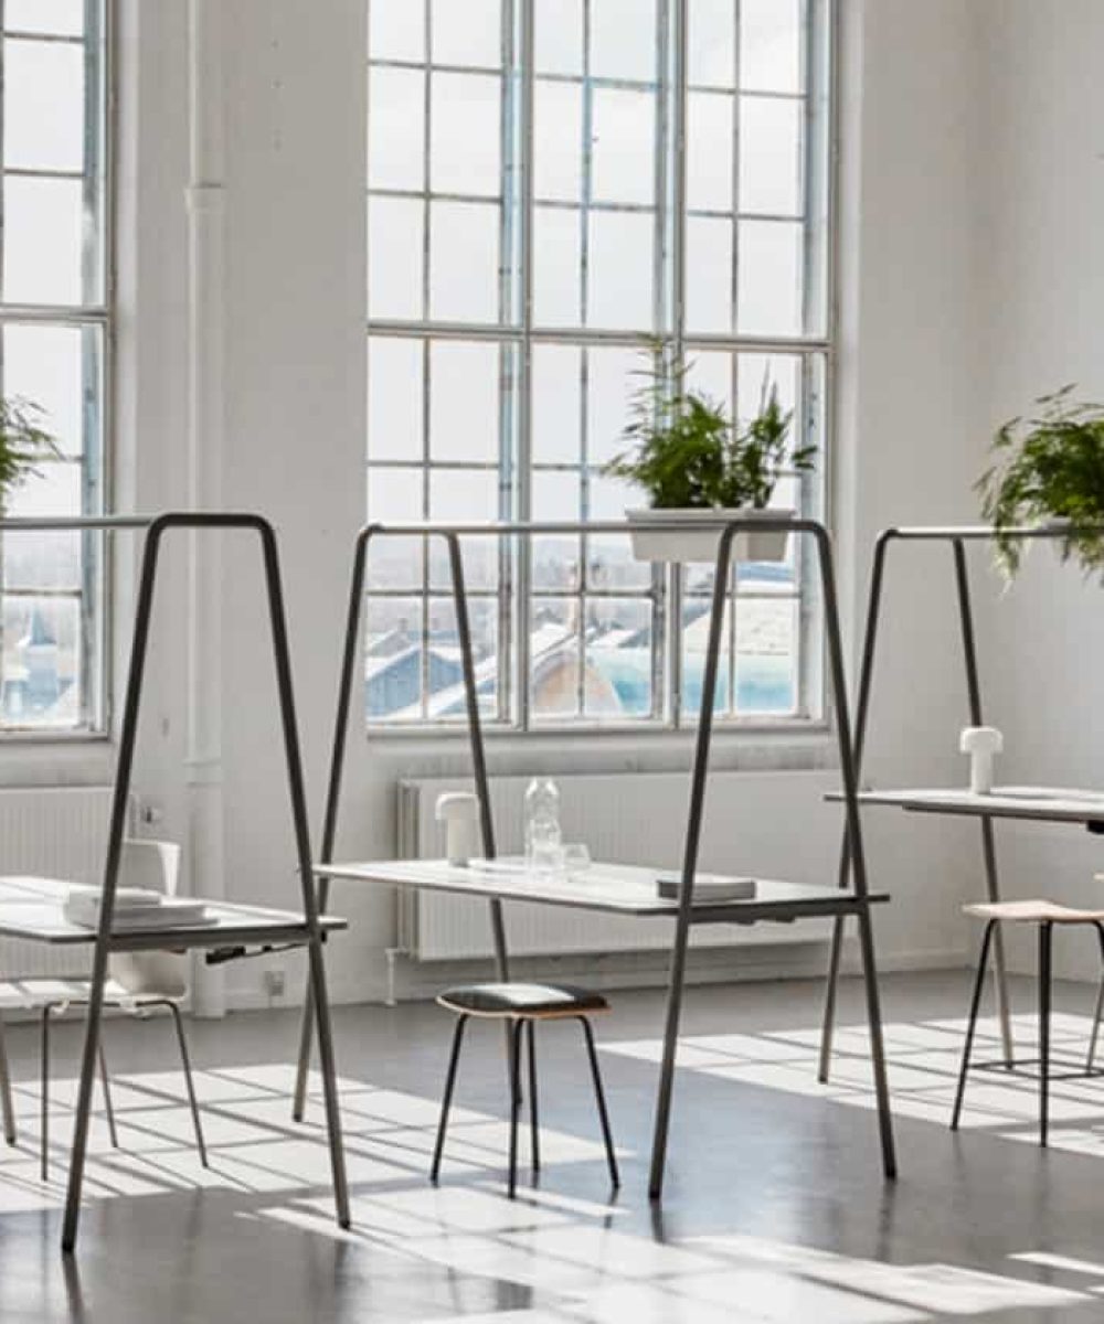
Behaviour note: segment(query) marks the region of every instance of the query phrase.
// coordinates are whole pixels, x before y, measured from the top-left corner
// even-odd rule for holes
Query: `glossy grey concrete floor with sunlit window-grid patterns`
[[[1018,982],[1032,1035],[1032,985]],[[1056,1086],[1035,1144],[1030,1082],[985,1074],[946,1129],[965,972],[884,981],[901,1176],[881,1178],[864,1037],[815,1083],[819,990],[693,990],[663,1205],[645,1196],[663,998],[596,1026],[620,1152],[610,1197],[577,1027],[538,1034],[545,1170],[505,1200],[501,1035],[473,1026],[444,1180],[425,1180],[451,1018],[337,1013],[354,1229],[331,1221],[321,1104],[292,1124],[294,1013],[191,1026],[209,1172],[191,1144],[168,1022],[113,1021],[122,1151],[94,1127],[74,1259],[58,1251],[80,1022],[54,1033],[53,1181],[38,1180],[37,1038],[13,1026],[20,1144],[0,1147],[0,1321],[282,1324],[911,1324],[1104,1320],[1104,1082]],[[1093,990],[1058,989],[1083,1050]],[[844,1019],[861,1022],[848,981]],[[993,1026],[982,1049],[991,1051]],[[522,1153],[527,1145],[522,1139]],[[1099,1165],[1099,1166],[1097,1166]]]

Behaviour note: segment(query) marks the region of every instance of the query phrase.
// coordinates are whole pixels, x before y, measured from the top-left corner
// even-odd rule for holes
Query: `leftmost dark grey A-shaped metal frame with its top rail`
[[[304,788],[302,756],[300,751],[296,700],[292,686],[290,649],[288,643],[288,621],[284,608],[284,588],[280,571],[280,552],[272,524],[260,515],[223,511],[170,511],[160,515],[109,515],[57,519],[4,519],[0,520],[0,535],[5,531],[27,530],[129,530],[144,532],[142,548],[138,597],[134,612],[134,636],[130,649],[130,665],[126,678],[122,726],[119,730],[118,763],[111,798],[111,821],[107,835],[107,849],[103,863],[103,894],[99,912],[99,927],[95,933],[93,955],[91,986],[87,998],[87,1021],[85,1045],[81,1058],[81,1078],[77,1094],[77,1115],[73,1127],[73,1148],[69,1164],[69,1188],[65,1202],[61,1246],[72,1253],[77,1243],[77,1226],[81,1214],[81,1188],[83,1182],[85,1158],[87,1155],[89,1116],[91,1108],[91,1087],[99,1049],[99,1027],[105,1002],[107,980],[107,960],[113,951],[156,949],[159,947],[204,947],[212,937],[201,933],[174,932],[172,929],[150,929],[139,933],[113,935],[111,920],[115,908],[119,863],[123,837],[126,833],[127,806],[134,767],[134,751],[138,739],[138,716],[142,702],[146,654],[150,638],[150,622],[156,587],[158,555],[162,539],[176,530],[195,532],[244,531],[256,534],[261,543],[264,564],[265,596],[269,626],[272,633],[272,654],[276,666],[276,688],[280,708],[280,724],[284,741],[288,792],[290,798],[292,822],[296,841],[296,863],[302,891],[302,923],[290,935],[301,941],[309,953],[309,981],[311,1006],[318,1022],[318,1045],[322,1064],[323,1092],[326,1100],[326,1128],[330,1148],[330,1166],[334,1182],[337,1219],[342,1227],[350,1225],[349,1189],[345,1174],[345,1155],[341,1139],[341,1116],[337,1096],[337,1070],[334,1064],[333,1033],[330,1029],[329,996],[326,992],[325,960],[322,952],[322,929],[318,923],[315,890],[310,875],[310,833],[307,826],[306,794]],[[217,941],[217,939],[213,939]],[[245,941],[245,936],[241,937]]]

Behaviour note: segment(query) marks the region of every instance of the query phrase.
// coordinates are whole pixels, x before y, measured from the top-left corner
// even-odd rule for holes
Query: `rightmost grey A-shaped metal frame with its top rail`
[[[1062,524],[1042,524],[1027,528],[1010,528],[1001,532],[1001,538],[1017,542],[1062,542],[1068,538],[1070,530]],[[981,681],[978,675],[977,638],[974,633],[974,616],[970,602],[970,579],[966,567],[966,543],[991,543],[998,534],[989,526],[961,524],[961,526],[930,526],[909,528],[887,528],[879,534],[873,549],[873,567],[871,571],[869,598],[867,602],[867,621],[863,636],[863,655],[859,669],[859,692],[855,704],[855,744],[854,764],[856,779],[861,776],[863,747],[867,736],[867,720],[869,716],[871,690],[873,686],[873,665],[877,646],[877,630],[881,616],[881,598],[885,585],[885,561],[893,543],[949,543],[954,563],[954,584],[958,600],[958,620],[962,632],[962,658],[966,671],[966,696],[970,726],[981,726],[982,698]],[[997,902],[1001,899],[1001,880],[997,869],[997,847],[994,839],[993,818],[981,817],[981,846],[985,865],[986,899]],[[839,886],[847,887],[852,875],[852,850],[850,821],[844,826],[843,845],[840,847]],[[828,972],[824,984],[824,1014],[820,1034],[820,1066],[818,1078],[820,1082],[828,1079],[832,1057],[832,1031],[835,1027],[836,985],[839,982],[840,956],[843,952],[844,918],[838,916],[832,928],[832,945],[828,957]],[[1005,947],[999,927],[993,941],[993,960],[995,974],[997,1013],[1001,1022],[1001,1039],[1007,1066],[1013,1064],[1013,1031],[1009,1012],[1007,977],[1005,967]]]

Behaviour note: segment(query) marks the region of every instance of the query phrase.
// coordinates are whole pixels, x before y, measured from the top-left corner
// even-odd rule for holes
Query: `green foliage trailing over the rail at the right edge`
[[[1104,577],[1104,406],[1079,404],[1074,385],[1040,396],[1028,418],[993,438],[994,463],[974,483],[997,531],[997,563],[1011,579],[1023,543],[1009,530],[1062,522],[1062,559]]]

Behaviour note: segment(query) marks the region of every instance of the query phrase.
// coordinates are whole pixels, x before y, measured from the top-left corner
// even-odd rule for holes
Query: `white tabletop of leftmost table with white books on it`
[[[0,875],[0,936],[23,937],[33,943],[94,943],[95,929],[65,919],[62,907],[73,884],[61,878]],[[204,900],[203,898],[197,898]],[[305,929],[298,911],[204,902],[213,923],[151,927],[117,933],[113,945],[142,947],[224,947],[232,943],[270,943],[301,939]],[[322,919],[326,929],[346,927],[333,915]]]

